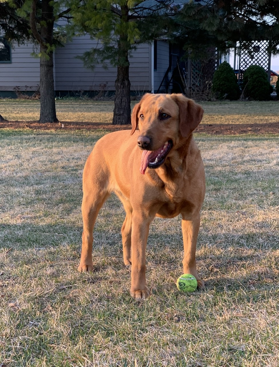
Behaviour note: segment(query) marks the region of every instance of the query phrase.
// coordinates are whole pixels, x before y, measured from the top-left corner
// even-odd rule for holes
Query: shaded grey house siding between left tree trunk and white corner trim
[[[55,52],[55,89],[57,91],[114,91],[117,68],[109,63],[104,69],[96,65],[93,70],[85,68],[81,59],[85,51],[97,46],[97,40],[89,36],[77,37]],[[150,60],[148,44],[139,44],[130,57],[131,90],[150,90]]]

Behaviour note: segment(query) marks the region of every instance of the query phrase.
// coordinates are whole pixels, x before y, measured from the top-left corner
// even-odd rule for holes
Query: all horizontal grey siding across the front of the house
[[[56,91],[114,91],[117,68],[108,64],[108,69],[96,65],[94,70],[85,68],[76,58],[97,41],[89,36],[76,37],[65,47],[57,48],[53,57]],[[40,84],[40,59],[31,56],[33,44],[18,46],[11,50],[11,63],[0,63],[0,91],[35,91]],[[38,50],[37,50],[38,51]],[[131,91],[151,90],[151,46],[139,44],[130,61]],[[159,63],[158,63],[159,65]]]

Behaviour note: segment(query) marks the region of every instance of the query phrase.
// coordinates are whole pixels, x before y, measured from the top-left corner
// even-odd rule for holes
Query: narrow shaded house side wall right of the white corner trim
[[[169,64],[169,43],[167,41],[157,41],[157,70],[154,70],[154,92],[156,93]],[[165,80],[160,87],[160,92],[165,90]]]

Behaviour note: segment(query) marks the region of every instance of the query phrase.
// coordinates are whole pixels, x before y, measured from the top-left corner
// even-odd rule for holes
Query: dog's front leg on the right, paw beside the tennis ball
[[[200,229],[200,214],[189,215],[182,214],[182,235],[183,235],[183,272],[196,277],[198,287],[204,288],[204,282],[200,279],[196,267],[196,247],[198,231]]]

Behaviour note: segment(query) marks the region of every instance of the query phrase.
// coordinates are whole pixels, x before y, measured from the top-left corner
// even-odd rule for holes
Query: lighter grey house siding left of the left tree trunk
[[[32,57],[33,44],[14,44],[11,63],[0,63],[0,91],[35,91],[40,84],[40,59]]]

